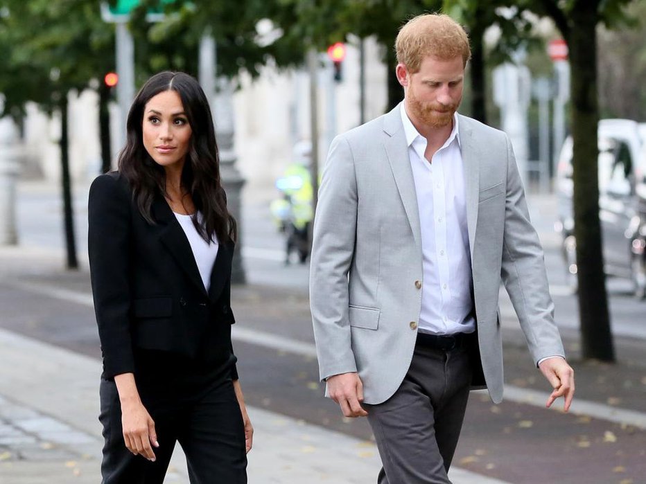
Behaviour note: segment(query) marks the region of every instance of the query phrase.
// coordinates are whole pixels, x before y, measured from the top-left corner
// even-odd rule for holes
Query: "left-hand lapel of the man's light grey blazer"
[[[421,250],[421,229],[419,227],[417,192],[415,191],[415,181],[412,176],[408,146],[406,145],[406,137],[403,125],[401,124],[399,109],[401,109],[401,103],[396,105],[384,117],[383,131],[386,136],[383,144],[387,159],[390,162],[390,169],[392,170],[397,190],[399,190],[399,197],[408,217],[408,224],[410,224],[415,244]]]

